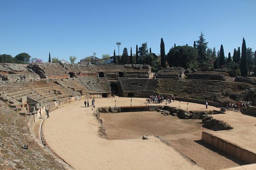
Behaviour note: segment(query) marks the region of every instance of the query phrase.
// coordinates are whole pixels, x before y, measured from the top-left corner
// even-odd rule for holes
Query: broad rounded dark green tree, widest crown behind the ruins
[[[170,66],[179,66],[185,69],[198,67],[198,50],[194,47],[183,45],[169,50],[166,57]]]

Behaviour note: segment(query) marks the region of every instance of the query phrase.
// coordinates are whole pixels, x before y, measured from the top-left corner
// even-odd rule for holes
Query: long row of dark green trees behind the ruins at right
[[[220,49],[216,52],[216,48],[208,48],[208,42],[204,38],[204,34],[201,32],[199,40],[194,41],[193,47],[186,45],[178,45],[174,43],[174,46],[169,49],[169,52],[165,54],[165,44],[163,38],[160,42],[160,55],[156,55],[151,52],[151,48],[147,48],[147,42],[142,43],[138,48],[136,45],[136,53],[128,54],[128,49],[123,49],[121,56],[115,55],[114,50],[114,63],[115,64],[147,64],[155,70],[164,67],[183,67],[185,69],[194,69],[202,67],[213,67],[214,69],[227,69],[235,70],[238,75],[248,76],[248,73],[256,73],[256,51],[253,52],[252,48],[246,47],[245,39],[242,40],[242,49],[240,47],[235,48],[233,55],[228,53],[226,57],[224,55],[224,47],[220,46]]]

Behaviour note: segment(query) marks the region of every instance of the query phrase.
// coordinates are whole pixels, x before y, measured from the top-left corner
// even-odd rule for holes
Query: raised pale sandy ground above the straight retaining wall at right
[[[230,124],[234,129],[214,132],[223,140],[256,152],[256,117],[244,115],[239,111],[227,111],[226,114],[213,115],[215,119]]]

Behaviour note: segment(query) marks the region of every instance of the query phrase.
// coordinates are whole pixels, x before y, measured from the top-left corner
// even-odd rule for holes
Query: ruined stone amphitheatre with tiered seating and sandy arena
[[[211,67],[0,63],[0,169],[256,169],[255,89]]]

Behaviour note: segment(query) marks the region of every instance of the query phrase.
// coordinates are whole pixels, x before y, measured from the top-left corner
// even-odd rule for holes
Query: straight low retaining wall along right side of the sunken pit
[[[249,164],[256,163],[256,154],[214,135],[216,132],[202,132],[202,140]]]

